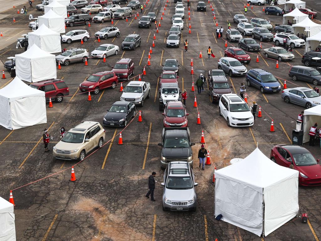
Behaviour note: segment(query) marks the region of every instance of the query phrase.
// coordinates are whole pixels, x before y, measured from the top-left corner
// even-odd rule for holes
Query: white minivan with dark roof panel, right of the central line
[[[254,118],[247,103],[237,94],[223,94],[219,102],[219,115],[228,126],[253,126]]]

